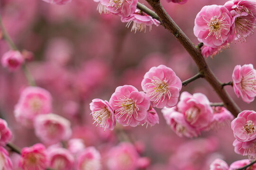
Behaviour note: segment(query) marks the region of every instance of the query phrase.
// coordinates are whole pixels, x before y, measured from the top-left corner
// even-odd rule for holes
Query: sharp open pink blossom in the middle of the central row
[[[116,88],[110,98],[110,105],[121,125],[136,127],[146,119],[146,111],[150,104],[145,93],[138,92],[132,85],[124,85]]]

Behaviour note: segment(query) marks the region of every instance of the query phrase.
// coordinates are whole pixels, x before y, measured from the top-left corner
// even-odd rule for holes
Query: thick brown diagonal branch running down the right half
[[[200,49],[196,48],[186,34],[177,26],[174,20],[167,14],[163,6],[160,4],[160,0],[146,0],[149,5],[154,9],[155,13],[159,16],[162,26],[170,31],[176,39],[183,45],[183,47],[191,55],[195,61],[199,73],[201,73],[206,81],[213,87],[220,99],[223,101],[225,107],[237,117],[240,109],[238,105],[232,100],[227,91],[222,88],[221,83],[217,77],[213,74],[205,59],[203,58]]]

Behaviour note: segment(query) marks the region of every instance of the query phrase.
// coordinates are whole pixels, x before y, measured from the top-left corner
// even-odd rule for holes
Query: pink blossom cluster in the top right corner
[[[233,40],[246,41],[256,28],[256,2],[229,0],[224,5],[204,6],[195,18],[194,34],[203,42],[204,57],[214,56]]]

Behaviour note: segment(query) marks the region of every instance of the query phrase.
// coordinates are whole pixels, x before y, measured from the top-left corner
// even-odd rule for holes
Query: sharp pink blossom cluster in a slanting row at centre
[[[159,122],[153,107],[173,107],[178,102],[182,82],[171,68],[164,65],[150,68],[141,82],[144,92],[132,85],[116,88],[110,102],[94,99],[90,104],[94,123],[113,130],[115,119],[123,126],[136,127]]]

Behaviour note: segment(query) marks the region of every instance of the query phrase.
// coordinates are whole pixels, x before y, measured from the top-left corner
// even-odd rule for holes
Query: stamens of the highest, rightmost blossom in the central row
[[[147,94],[151,97],[150,99],[155,99],[154,103],[159,104],[161,102],[162,96],[164,98],[162,99],[162,102],[165,100],[165,94],[167,94],[168,99],[171,98],[171,92],[169,90],[166,78],[164,80],[160,80],[158,77],[153,76],[151,78],[150,83],[146,83],[145,85],[148,85],[147,87]]]

